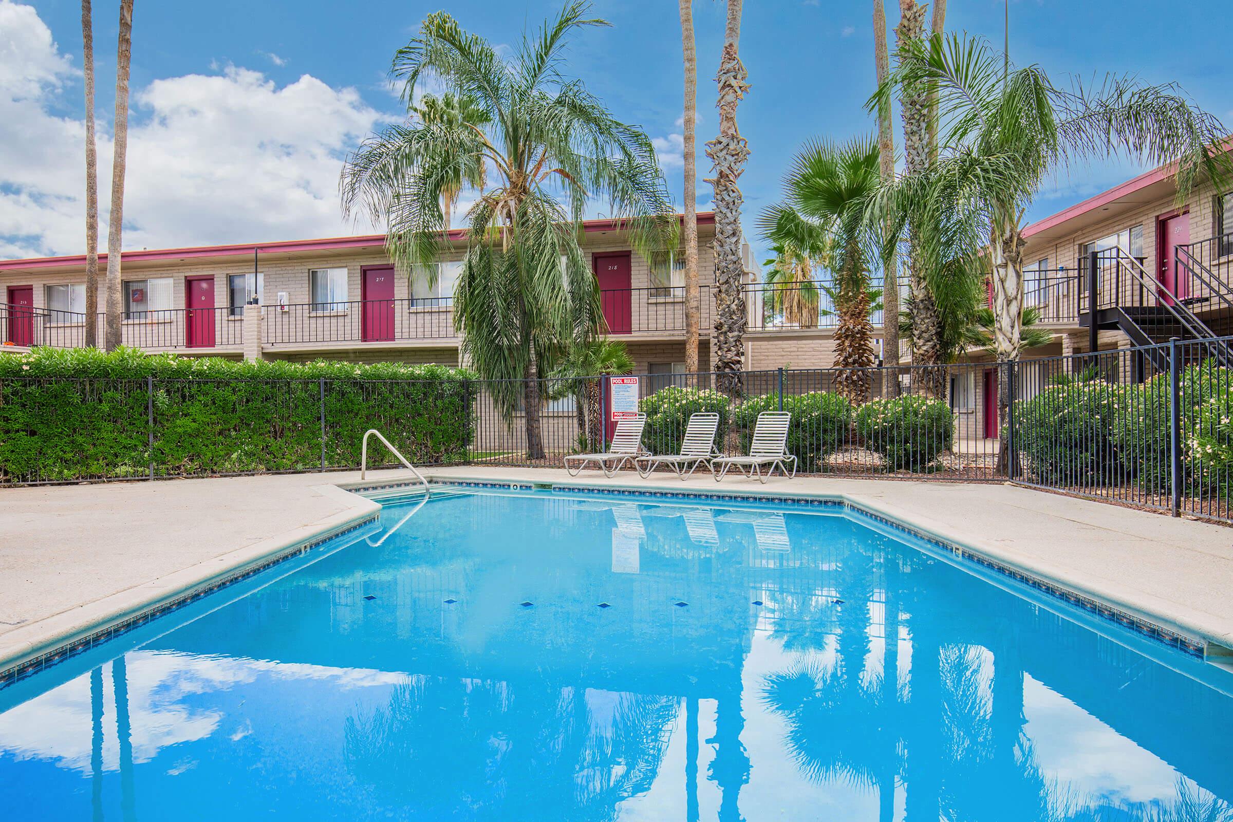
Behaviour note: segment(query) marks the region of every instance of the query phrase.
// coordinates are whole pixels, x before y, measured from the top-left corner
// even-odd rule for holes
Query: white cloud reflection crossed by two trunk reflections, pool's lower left
[[[261,659],[196,656],[166,651],[131,651],[128,714],[132,725],[133,762],[149,762],[159,751],[195,742],[215,733],[226,717],[217,710],[187,705],[189,698],[229,690],[258,677],[277,679],[328,679],[339,688],[392,685],[402,674],[380,670],[284,664]],[[104,665],[102,767],[117,770],[116,702],[111,665]],[[60,768],[90,773],[92,721],[90,674],[64,683],[0,714],[0,752],[14,758],[54,762]],[[233,741],[253,732],[252,726],[223,727]]]

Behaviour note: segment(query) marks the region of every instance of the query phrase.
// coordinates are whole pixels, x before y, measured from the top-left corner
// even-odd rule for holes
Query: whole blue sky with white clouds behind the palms
[[[745,5],[741,53],[752,89],[739,121],[752,150],[742,177],[745,223],[752,230],[756,212],[774,201],[779,176],[804,139],[873,131],[863,110],[873,90],[873,35],[868,0]],[[894,27],[898,4],[887,0],[887,6]],[[1228,27],[1215,20],[1215,6],[1021,0],[1010,4],[1011,54],[1017,63],[1039,63],[1054,78],[1115,71],[1178,81],[1229,124],[1233,62],[1224,55]],[[117,7],[95,1],[104,168],[110,164]],[[560,4],[367,0],[356,7],[363,12],[318,0],[137,4],[126,246],[369,230],[342,222],[334,185],[342,154],[398,116],[383,80],[393,51],[441,7],[492,42],[510,43]],[[596,0],[594,11],[613,27],[576,39],[570,70],[657,140],[679,201],[676,6]],[[694,15],[702,143],[716,127],[713,75],[724,4],[697,0]],[[951,0],[947,27],[1000,43],[1002,15],[1001,0]],[[32,7],[0,0],[0,256],[81,250],[80,49],[75,0]],[[708,164],[699,159],[702,177]],[[1133,160],[1071,169],[1030,216],[1052,213],[1137,170]],[[100,190],[106,186],[105,176]],[[709,200],[709,186],[699,184],[699,206]]]

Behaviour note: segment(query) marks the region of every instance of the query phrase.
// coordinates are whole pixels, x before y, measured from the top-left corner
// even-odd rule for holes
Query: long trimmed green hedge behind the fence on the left
[[[157,476],[319,468],[323,410],[327,467],[358,466],[369,428],[413,462],[457,461],[472,437],[472,380],[434,365],[4,355],[0,482],[147,476],[152,462]],[[392,460],[380,444],[375,455]]]

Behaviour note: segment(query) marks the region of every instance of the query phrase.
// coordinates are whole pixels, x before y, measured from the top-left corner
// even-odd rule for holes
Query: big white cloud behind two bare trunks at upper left
[[[52,113],[73,73],[33,7],[0,0],[0,256],[83,251],[84,124]],[[97,112],[104,248],[107,97]],[[280,87],[228,65],[134,89],[125,248],[371,230],[343,221],[338,175],[344,154],[381,120],[354,89],[307,74]]]

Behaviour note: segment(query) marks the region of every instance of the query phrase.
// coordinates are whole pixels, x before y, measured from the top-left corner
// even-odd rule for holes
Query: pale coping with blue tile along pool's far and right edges
[[[645,495],[652,498],[693,498],[693,499],[718,499],[732,502],[760,502],[760,503],[788,503],[788,504],[821,504],[831,503],[842,505],[869,516],[875,521],[905,532],[916,539],[924,540],[936,548],[947,551],[964,562],[972,562],[999,574],[1010,577],[1016,582],[1026,584],[1037,592],[1055,600],[1067,603],[1084,611],[1088,611],[1104,620],[1120,625],[1123,629],[1134,631],[1142,637],[1147,637],[1165,647],[1181,651],[1191,657],[1205,659],[1222,668],[1229,668],[1233,663],[1229,648],[1233,647],[1233,635],[1213,633],[1202,625],[1187,620],[1184,615],[1160,614],[1142,604],[1132,601],[1117,592],[1092,584],[1088,580],[1074,578],[1071,574],[1058,573],[1052,568],[1043,568],[1030,562],[1018,562],[1015,557],[1007,556],[988,545],[980,545],[967,536],[954,534],[944,527],[931,527],[921,524],[916,516],[907,511],[896,509],[893,504],[879,502],[877,505],[867,500],[856,499],[846,493],[816,493],[816,492],[787,492],[782,486],[777,489],[751,488],[748,490],[735,490],[718,487],[715,490],[700,490],[695,488],[673,488],[671,484],[656,483],[656,481],[641,481],[637,484],[605,481],[593,483],[586,479],[493,479],[491,477],[476,477],[473,474],[429,472],[429,482],[439,484],[454,484],[478,488],[507,488],[507,489],[535,489],[551,488],[554,490],[578,490],[586,493],[610,493]],[[656,484],[651,484],[656,483]],[[345,483],[340,487],[356,493],[390,489],[393,487],[414,487],[418,482],[390,482],[390,483]]]

